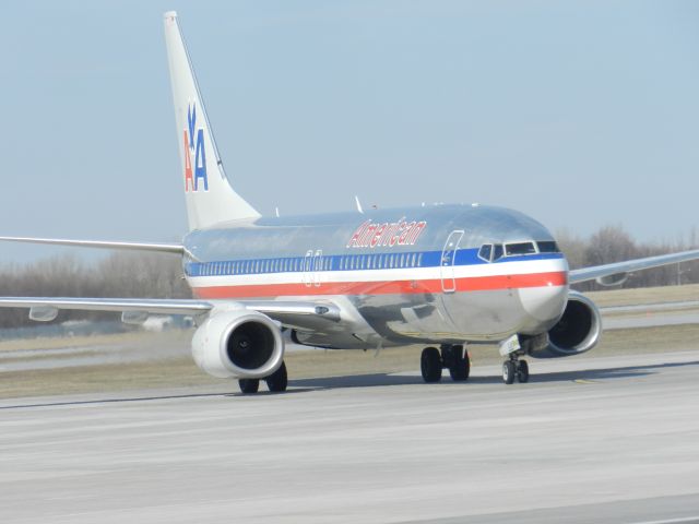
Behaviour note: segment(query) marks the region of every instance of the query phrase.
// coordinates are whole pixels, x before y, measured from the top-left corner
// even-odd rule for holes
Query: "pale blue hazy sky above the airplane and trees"
[[[26,0],[2,10],[0,235],[186,233],[170,9],[228,176],[263,214],[358,194],[580,235],[699,225],[699,2]]]

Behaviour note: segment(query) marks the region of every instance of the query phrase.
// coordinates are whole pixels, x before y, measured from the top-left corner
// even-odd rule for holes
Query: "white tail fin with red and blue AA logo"
[[[165,13],[165,44],[189,228],[200,229],[227,221],[257,218],[260,214],[233,190],[226,178],[174,11]]]

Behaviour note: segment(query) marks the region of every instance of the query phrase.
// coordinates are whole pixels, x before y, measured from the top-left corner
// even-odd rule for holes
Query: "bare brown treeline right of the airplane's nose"
[[[557,233],[556,239],[571,269],[699,249],[699,230],[696,227],[686,239],[656,243],[636,242],[621,226],[605,226],[589,238],[561,230]],[[699,262],[683,262],[631,273],[619,286],[603,287],[595,282],[589,282],[574,287],[579,290],[593,290],[696,283],[699,283]]]

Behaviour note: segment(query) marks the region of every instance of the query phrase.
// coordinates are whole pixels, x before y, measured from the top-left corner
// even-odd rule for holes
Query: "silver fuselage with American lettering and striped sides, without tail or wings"
[[[185,273],[194,295],[210,300],[339,306],[342,322],[296,332],[304,344],[498,342],[559,320],[568,264],[538,249],[486,260],[482,247],[553,240],[529,216],[491,206],[262,217],[189,234]]]

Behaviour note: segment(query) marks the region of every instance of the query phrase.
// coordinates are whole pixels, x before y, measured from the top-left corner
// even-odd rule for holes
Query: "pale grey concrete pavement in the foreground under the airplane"
[[[690,522],[699,354],[4,401],[3,522]],[[232,391],[235,389],[232,384]]]

